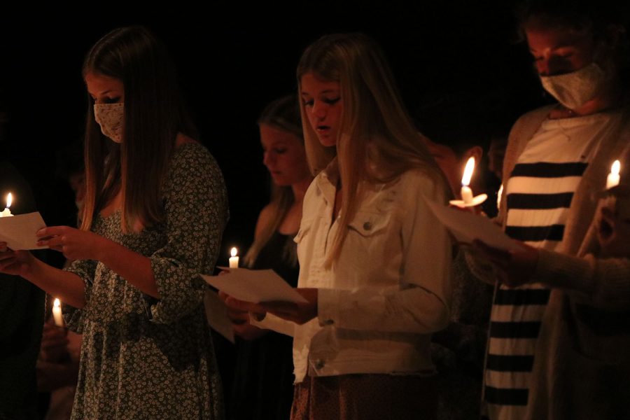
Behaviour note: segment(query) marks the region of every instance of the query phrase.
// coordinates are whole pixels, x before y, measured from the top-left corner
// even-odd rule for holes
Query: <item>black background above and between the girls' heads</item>
[[[244,253],[267,200],[255,120],[267,102],[295,90],[297,61],[318,36],[363,31],[376,38],[409,111],[418,115],[455,98],[455,109],[436,115],[445,125],[470,129],[471,139],[487,127],[507,130],[543,100],[526,48],[515,42],[507,0],[46,7],[0,15],[0,92],[10,116],[9,142],[0,153],[31,183],[46,223],[73,221],[73,196],[57,176],[63,164],[57,155],[83,134],[83,55],[115,27],[146,25],[169,46],[200,140],[225,176],[231,218],[221,265],[231,246]]]

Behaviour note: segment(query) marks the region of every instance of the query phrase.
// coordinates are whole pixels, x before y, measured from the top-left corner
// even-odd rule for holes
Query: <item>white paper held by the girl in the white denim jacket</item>
[[[307,300],[288,285],[272,269],[230,269],[221,276],[204,276],[212,287],[222,290],[238,300],[246,302],[294,302],[307,303]]]

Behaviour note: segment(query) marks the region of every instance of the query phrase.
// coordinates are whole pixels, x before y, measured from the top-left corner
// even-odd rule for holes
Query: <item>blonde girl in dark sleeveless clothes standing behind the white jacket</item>
[[[244,263],[273,269],[297,286],[297,251],[293,237],[300,227],[302,200],[313,176],[309,171],[300,106],[295,94],[270,102],[258,118],[262,162],[272,178],[271,202],[260,211],[253,244]],[[224,294],[221,294],[225,297]],[[236,343],[236,366],[228,395],[230,419],[286,419],[293,400],[293,356],[290,337],[257,328],[248,313],[229,311]],[[243,401],[248,400],[248,404]]]

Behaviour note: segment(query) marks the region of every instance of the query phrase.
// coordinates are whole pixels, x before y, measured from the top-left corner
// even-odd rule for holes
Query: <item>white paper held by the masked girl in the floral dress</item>
[[[42,249],[48,246],[37,246],[35,233],[46,224],[38,211],[18,214],[17,216],[0,217],[0,242],[6,242],[13,251],[20,249]]]

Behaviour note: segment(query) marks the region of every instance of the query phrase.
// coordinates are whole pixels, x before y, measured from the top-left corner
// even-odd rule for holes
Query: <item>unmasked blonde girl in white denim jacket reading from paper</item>
[[[295,337],[293,419],[433,418],[451,242],[426,200],[445,204],[447,183],[370,38],[319,39],[297,82],[316,174],[295,237],[308,303],[226,303]]]

